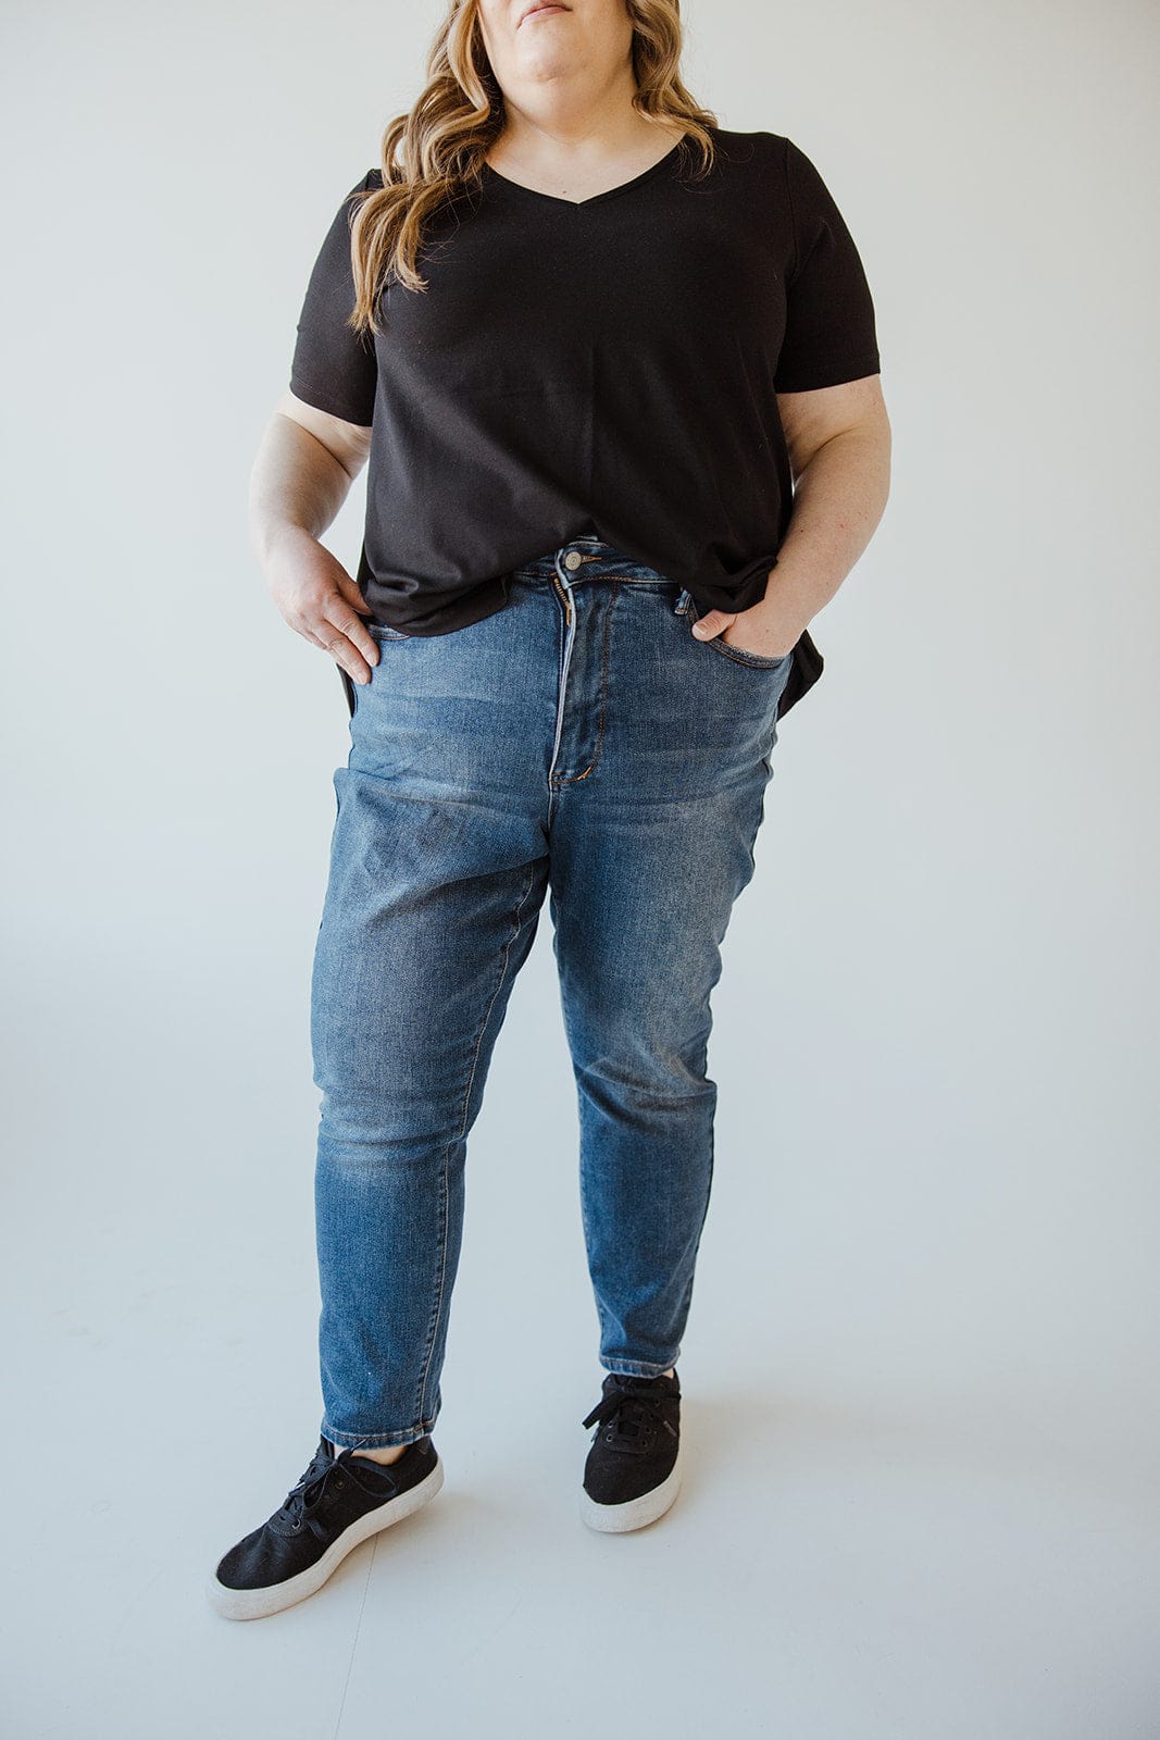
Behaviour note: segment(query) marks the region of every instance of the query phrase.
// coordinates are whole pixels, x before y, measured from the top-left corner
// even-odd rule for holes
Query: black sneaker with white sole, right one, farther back
[[[680,1380],[610,1371],[603,1401],[584,1420],[597,1425],[584,1463],[581,1517],[605,1535],[643,1528],[680,1491]]]

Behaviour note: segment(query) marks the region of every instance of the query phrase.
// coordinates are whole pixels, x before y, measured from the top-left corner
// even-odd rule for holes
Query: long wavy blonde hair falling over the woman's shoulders
[[[708,174],[708,129],[717,127],[717,117],[694,103],[680,78],[680,0],[624,5],[633,24],[633,108],[649,120],[682,124],[682,158],[699,146],[697,174]],[[353,202],[355,308],[346,324],[355,332],[379,331],[374,303],[386,273],[410,291],[428,287],[416,270],[424,219],[478,184],[483,158],[504,127],[504,97],[483,47],[478,0],[450,0],[426,71],[428,84],[409,113],[397,115],[383,134],[383,186],[360,188]],[[400,144],[405,162],[397,158]]]

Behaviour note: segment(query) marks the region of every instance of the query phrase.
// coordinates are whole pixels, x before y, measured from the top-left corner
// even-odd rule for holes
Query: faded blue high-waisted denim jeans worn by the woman
[[[466,1138],[546,893],[600,1364],[666,1371],[689,1315],[710,992],[795,654],[697,640],[690,595],[597,538],[510,581],[466,628],[372,628],[334,774],[311,1046],[337,1444],[409,1444],[438,1418]]]

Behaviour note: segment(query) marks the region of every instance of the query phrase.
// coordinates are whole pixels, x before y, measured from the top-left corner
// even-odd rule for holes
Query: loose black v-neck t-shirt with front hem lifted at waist
[[[765,595],[793,506],[777,393],[878,374],[863,264],[812,162],[711,129],[588,200],[483,165],[424,228],[426,291],[390,271],[381,334],[346,325],[353,195],[315,261],[290,392],[370,426],[358,586],[440,635],[503,609],[511,571],[583,534],[699,611]]]

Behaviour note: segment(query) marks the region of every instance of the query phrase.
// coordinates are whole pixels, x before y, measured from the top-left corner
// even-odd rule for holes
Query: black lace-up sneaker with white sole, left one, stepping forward
[[[261,1620],[322,1589],[360,1542],[419,1510],[443,1484],[443,1463],[419,1437],[391,1463],[334,1455],[318,1441],[313,1462],[285,1503],[231,1547],[207,1583],[210,1606],[228,1620]]]

